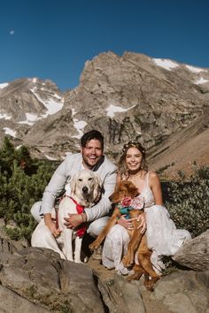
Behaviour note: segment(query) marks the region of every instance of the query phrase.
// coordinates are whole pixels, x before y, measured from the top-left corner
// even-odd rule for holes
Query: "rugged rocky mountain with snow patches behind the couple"
[[[209,164],[209,69],[126,52],[87,61],[80,84],[61,93],[50,80],[0,84],[0,140],[12,135],[35,156],[61,159],[79,149],[83,132],[105,135],[113,159],[139,140],[165,178]]]

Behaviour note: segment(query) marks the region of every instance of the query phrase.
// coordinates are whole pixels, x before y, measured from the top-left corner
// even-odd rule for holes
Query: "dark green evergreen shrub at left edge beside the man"
[[[0,149],[0,218],[15,227],[6,226],[13,240],[30,241],[35,219],[30,214],[32,205],[42,199],[55,164],[32,159],[27,147],[15,149],[7,137]]]

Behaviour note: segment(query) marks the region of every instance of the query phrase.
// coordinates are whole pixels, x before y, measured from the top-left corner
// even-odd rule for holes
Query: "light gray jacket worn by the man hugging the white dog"
[[[65,161],[58,166],[50,179],[50,183],[45,188],[40,214],[51,212],[55,199],[62,192],[66,181],[81,171],[82,168],[81,153],[66,156]],[[97,166],[96,171],[102,179],[104,193],[101,200],[94,207],[85,209],[89,221],[108,214],[111,209],[109,196],[112,195],[116,183],[117,167],[106,156],[104,156],[104,162]]]

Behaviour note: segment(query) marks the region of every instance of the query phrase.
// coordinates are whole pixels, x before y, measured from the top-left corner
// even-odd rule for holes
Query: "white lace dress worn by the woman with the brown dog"
[[[190,240],[190,233],[186,230],[176,229],[174,221],[166,208],[154,204],[154,197],[149,187],[149,172],[141,196],[144,198],[147,222],[148,247],[153,251],[151,263],[156,272],[164,268],[162,256],[174,256],[185,240]],[[104,240],[102,262],[108,269],[115,268],[121,274],[128,274],[128,269],[121,262],[122,256],[127,254],[129,236],[126,228],[114,225]]]

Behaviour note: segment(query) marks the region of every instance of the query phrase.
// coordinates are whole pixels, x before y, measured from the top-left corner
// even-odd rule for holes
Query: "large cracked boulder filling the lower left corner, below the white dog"
[[[0,262],[0,292],[20,303],[8,310],[7,302],[0,302],[1,312],[28,312],[35,305],[37,312],[104,312],[92,271],[84,264],[63,262],[50,250],[35,248],[1,253]]]

